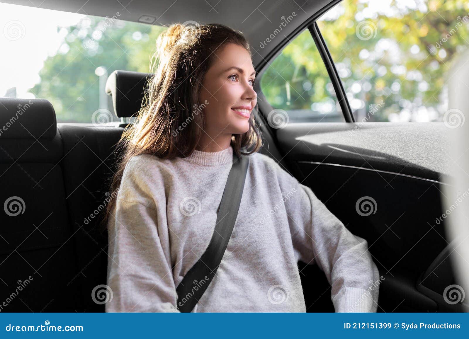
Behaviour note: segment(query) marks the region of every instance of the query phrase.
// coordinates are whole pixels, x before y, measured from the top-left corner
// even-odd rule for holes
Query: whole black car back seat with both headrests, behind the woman
[[[106,93],[119,118],[136,115],[150,76],[129,71],[109,76]],[[16,119],[20,106],[28,108]],[[284,166],[258,121],[266,142],[261,152]],[[19,280],[34,279],[0,311],[103,312],[108,239],[98,231],[98,214],[113,194],[109,179],[121,156],[115,145],[126,124],[57,124],[47,100],[16,98],[0,98],[0,124],[0,203],[15,196],[24,201],[23,213],[2,212],[0,298]]]

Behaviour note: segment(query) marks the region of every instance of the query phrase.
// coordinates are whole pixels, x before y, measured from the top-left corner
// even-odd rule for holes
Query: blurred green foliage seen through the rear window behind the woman
[[[154,42],[163,30],[160,26],[96,16],[57,28],[64,29],[67,33],[63,45],[45,60],[39,72],[41,81],[31,92],[51,101],[58,122],[88,123],[100,108],[96,68],[106,68],[107,74],[117,69],[148,72]],[[107,100],[112,112],[110,98]]]

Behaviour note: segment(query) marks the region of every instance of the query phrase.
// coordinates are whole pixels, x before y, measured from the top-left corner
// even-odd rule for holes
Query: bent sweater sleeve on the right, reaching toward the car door
[[[376,312],[379,271],[367,241],[348,231],[309,187],[275,165],[298,259],[324,271],[336,312]]]

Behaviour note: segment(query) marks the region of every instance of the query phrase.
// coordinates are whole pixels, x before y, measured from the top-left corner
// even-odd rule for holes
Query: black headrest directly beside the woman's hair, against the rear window
[[[119,118],[135,116],[142,106],[145,83],[152,73],[113,71],[106,81],[106,94],[113,98],[114,112]]]

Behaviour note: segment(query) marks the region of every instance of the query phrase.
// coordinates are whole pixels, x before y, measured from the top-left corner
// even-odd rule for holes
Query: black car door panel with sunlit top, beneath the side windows
[[[424,293],[424,285],[442,278],[427,272],[422,284],[422,276],[448,246],[440,194],[451,174],[452,162],[444,150],[449,129],[443,123],[355,126],[292,123],[273,133],[292,174],[348,230],[368,241],[383,277],[378,311],[441,311],[435,299],[442,298],[442,292]],[[441,267],[454,276],[449,260]],[[309,279],[303,277],[305,286]],[[326,304],[324,294],[320,301],[318,297],[309,295],[307,307]]]

